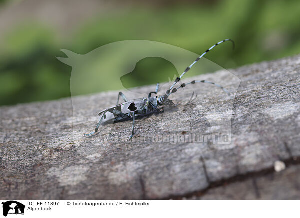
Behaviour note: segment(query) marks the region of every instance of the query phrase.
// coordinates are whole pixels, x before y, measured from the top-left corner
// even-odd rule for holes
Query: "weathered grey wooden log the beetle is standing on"
[[[84,137],[82,132],[96,124],[94,114],[115,103],[117,91],[75,97],[74,112],[70,98],[0,107],[0,198],[299,198],[300,56],[230,72],[241,83],[232,108],[231,144],[225,146],[115,140],[130,135],[132,121]],[[225,81],[231,90],[223,72],[198,78]],[[209,85],[196,90],[200,104],[178,105],[163,123],[162,114],[137,119],[136,138],[187,122],[192,132],[213,132],[217,126],[201,117],[216,109],[226,114],[230,100]],[[286,169],[275,172],[276,160]]]

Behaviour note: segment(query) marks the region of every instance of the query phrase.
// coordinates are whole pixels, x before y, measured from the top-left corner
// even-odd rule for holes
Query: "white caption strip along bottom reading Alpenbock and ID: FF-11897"
[[[293,217],[298,200],[1,200],[13,217]],[[3,208],[2,208],[3,207]],[[16,216],[20,215],[22,216]],[[2,216],[4,215],[4,216]]]

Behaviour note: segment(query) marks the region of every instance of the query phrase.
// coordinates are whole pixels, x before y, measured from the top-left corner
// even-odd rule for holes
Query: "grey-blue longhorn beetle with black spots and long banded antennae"
[[[209,49],[207,49],[204,53],[202,53],[201,56],[199,56],[190,66],[188,66],[184,72],[175,79],[174,83],[172,84],[171,87],[169,87],[166,91],[166,93],[164,95],[156,95],[154,97],[152,97],[152,94],[157,94],[158,89],[159,89],[159,83],[157,83],[156,85],[156,89],[155,91],[152,91],[149,93],[148,97],[143,97],[143,98],[137,98],[137,99],[133,99],[128,101],[126,96],[122,93],[119,92],[118,97],[117,97],[117,101],[116,101],[116,105],[109,107],[105,110],[102,110],[98,113],[98,115],[100,116],[98,124],[95,128],[95,130],[89,134],[84,134],[87,136],[93,135],[94,133],[96,133],[98,131],[98,128],[100,126],[100,124],[107,122],[108,120],[114,120],[114,121],[120,121],[123,119],[128,119],[128,118],[133,118],[133,124],[132,124],[132,132],[131,135],[129,137],[129,139],[131,139],[134,135],[134,123],[135,123],[135,116],[137,115],[141,115],[141,114],[147,114],[150,112],[160,112],[163,110],[159,110],[159,108],[165,106],[165,105],[170,105],[170,106],[175,106],[175,104],[173,103],[172,100],[168,99],[168,97],[172,94],[175,93],[179,88],[184,88],[186,85],[188,84],[195,84],[197,82],[202,82],[202,83],[209,83],[209,84],[213,84],[219,88],[221,88],[223,91],[225,91],[228,95],[230,95],[230,93],[222,86],[220,86],[219,84],[216,84],[214,82],[210,82],[210,81],[206,81],[206,80],[201,80],[201,81],[197,81],[197,80],[193,80],[191,82],[188,83],[182,83],[179,87],[177,88],[173,88],[182,78],[182,76],[199,60],[201,59],[206,53],[208,53],[208,51],[210,51],[211,49],[213,49],[215,46],[225,42],[225,41],[231,41],[233,43],[233,48],[234,48],[234,41],[232,41],[231,39],[225,39],[222,40],[216,44],[214,44],[213,46],[211,46]],[[172,89],[173,88],[173,89]],[[124,103],[119,104],[119,98],[120,96],[122,97],[122,99],[125,101]]]

